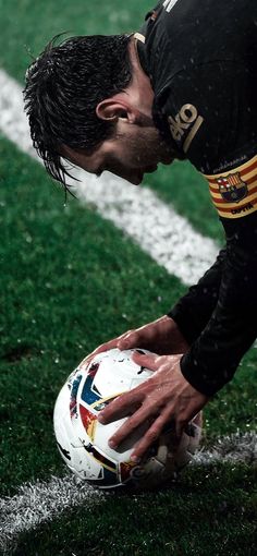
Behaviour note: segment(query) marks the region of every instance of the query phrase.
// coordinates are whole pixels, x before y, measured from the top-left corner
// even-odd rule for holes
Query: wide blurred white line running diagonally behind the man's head
[[[37,158],[23,110],[22,88],[2,70],[0,130],[21,150]],[[77,176],[81,201],[93,204],[101,216],[112,220],[182,282],[195,283],[213,263],[218,253],[215,242],[197,233],[150,190],[128,185],[108,172],[100,179],[82,171]]]

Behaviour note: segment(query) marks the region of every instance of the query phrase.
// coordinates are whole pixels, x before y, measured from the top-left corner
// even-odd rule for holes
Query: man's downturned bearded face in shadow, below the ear
[[[154,124],[123,123],[115,128],[112,138],[106,140],[91,155],[83,149],[64,147],[64,156],[87,172],[100,176],[105,170],[138,185],[145,173],[157,170],[158,164],[171,164],[174,152],[161,140]]]

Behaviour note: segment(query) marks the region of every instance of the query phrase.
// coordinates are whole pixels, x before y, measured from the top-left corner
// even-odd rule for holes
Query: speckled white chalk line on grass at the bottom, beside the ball
[[[220,438],[211,450],[199,451],[192,464],[212,466],[217,462],[256,464],[256,433],[236,433]],[[85,504],[88,510],[88,507],[100,503],[101,511],[105,511],[102,505],[108,495],[71,474],[64,479],[53,476],[49,482],[20,486],[15,496],[0,499],[0,549],[3,554],[8,553],[22,532],[35,530],[68,508]]]

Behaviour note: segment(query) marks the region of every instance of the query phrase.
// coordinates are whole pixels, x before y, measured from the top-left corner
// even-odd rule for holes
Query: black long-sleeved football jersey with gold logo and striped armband
[[[156,125],[206,177],[225,232],[169,313],[191,343],[184,376],[211,396],[257,337],[257,2],[166,0],[137,37]]]

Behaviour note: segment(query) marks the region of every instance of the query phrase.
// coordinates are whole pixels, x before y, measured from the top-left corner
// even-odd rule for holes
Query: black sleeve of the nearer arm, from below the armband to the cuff
[[[257,335],[257,214],[228,230],[216,307],[181,367],[199,391],[212,396],[228,383]]]

